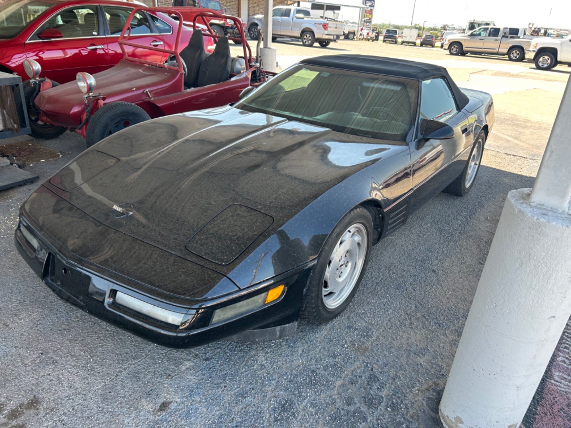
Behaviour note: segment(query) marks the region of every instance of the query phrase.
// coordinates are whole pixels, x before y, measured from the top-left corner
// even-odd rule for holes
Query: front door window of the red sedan
[[[46,21],[39,29],[56,29],[63,38],[93,37],[99,35],[96,6],[75,6],[63,10]]]

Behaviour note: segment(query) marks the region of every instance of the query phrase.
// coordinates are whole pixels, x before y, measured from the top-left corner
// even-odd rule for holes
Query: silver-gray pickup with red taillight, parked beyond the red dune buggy
[[[264,15],[248,19],[248,35],[258,39],[258,27],[264,28]],[[278,37],[301,39],[304,46],[327,47],[332,41],[343,38],[343,22],[311,16],[309,9],[295,6],[276,6],[272,10],[272,41]]]

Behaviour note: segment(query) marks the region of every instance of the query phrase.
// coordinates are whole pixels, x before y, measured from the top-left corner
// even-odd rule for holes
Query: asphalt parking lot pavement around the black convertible
[[[59,300],[16,252],[19,206],[86,148],[70,132],[39,142],[62,157],[27,167],[39,181],[0,192],[0,426],[440,426],[438,403],[505,197],[532,187],[571,68],[380,42],[275,47],[283,69],[315,55],[393,56],[445,66],[460,87],[492,94],[496,125],[475,187],[464,198],[437,196],[374,247],[355,298],[329,324],[301,321],[280,341],[174,350]],[[2,144],[16,140],[37,142]],[[527,428],[548,426],[538,411],[541,397]]]

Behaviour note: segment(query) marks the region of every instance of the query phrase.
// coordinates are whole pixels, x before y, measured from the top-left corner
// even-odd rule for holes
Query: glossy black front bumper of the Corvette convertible
[[[31,235],[32,239],[35,239],[35,248],[22,233],[22,225],[28,238]],[[189,299],[187,305],[180,304],[179,301],[175,304],[134,290],[100,272],[94,272],[81,261],[71,260],[60,252],[56,245],[38,233],[37,229],[38,226],[25,219],[21,213],[14,243],[30,268],[55,294],[104,321],[173,348],[203,345],[245,330],[269,328],[296,321],[304,288],[313,267],[313,263],[309,263],[268,281],[211,300]],[[216,309],[259,296],[280,284],[284,285],[284,291],[278,300],[212,324]],[[118,304],[118,293],[123,293],[123,297],[127,295],[135,298],[147,306],[159,308],[163,313],[179,315],[183,322],[179,326],[173,325]]]

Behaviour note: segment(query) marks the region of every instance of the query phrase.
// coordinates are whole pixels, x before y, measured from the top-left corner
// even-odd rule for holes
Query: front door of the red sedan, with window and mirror
[[[49,37],[47,37],[49,36]],[[109,68],[106,38],[96,5],[67,7],[50,15],[24,43],[26,58],[42,66],[42,76],[66,83],[78,71]]]

